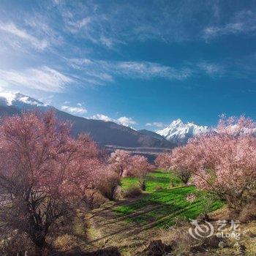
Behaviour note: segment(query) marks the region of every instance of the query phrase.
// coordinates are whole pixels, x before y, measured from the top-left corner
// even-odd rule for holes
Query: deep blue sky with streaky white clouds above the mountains
[[[161,129],[256,118],[255,1],[0,1],[0,93]]]

